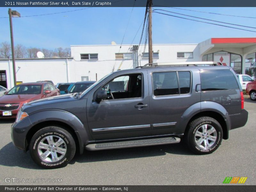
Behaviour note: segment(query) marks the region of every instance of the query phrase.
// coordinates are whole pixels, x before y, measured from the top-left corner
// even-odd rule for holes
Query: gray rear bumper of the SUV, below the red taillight
[[[245,109],[242,109],[240,114],[229,115],[229,117],[231,122],[230,129],[236,129],[243,127],[246,124],[248,119],[248,112]]]

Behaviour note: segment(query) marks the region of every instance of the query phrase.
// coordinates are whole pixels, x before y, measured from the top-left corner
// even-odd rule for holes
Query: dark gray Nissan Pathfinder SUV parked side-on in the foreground
[[[247,122],[236,74],[217,62],[147,64],[105,76],[84,92],[24,105],[13,144],[44,168],[75,152],[186,141],[196,154],[215,151]]]

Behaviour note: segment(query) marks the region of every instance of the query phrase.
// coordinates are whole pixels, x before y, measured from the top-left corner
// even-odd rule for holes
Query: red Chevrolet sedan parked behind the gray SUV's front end
[[[24,103],[60,95],[60,90],[46,82],[16,85],[0,97],[0,118],[14,118]]]

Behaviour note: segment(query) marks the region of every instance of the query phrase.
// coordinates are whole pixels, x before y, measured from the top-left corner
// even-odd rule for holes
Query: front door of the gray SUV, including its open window
[[[108,99],[92,101],[101,90]],[[88,96],[87,121],[95,140],[150,136],[147,71],[110,77]]]

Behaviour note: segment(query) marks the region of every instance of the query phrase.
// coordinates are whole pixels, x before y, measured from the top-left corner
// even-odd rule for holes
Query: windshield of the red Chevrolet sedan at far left
[[[42,85],[16,85],[7,95],[20,95],[20,94],[40,94]]]

